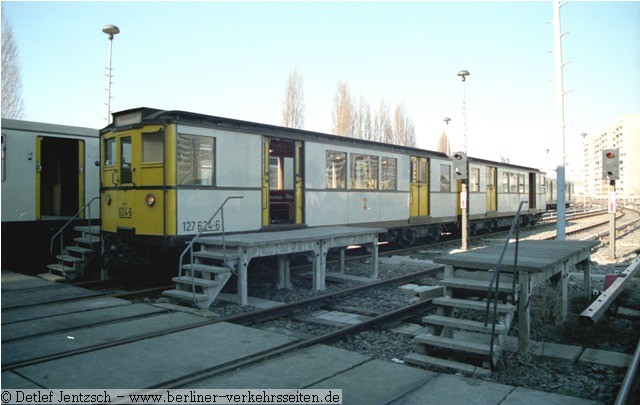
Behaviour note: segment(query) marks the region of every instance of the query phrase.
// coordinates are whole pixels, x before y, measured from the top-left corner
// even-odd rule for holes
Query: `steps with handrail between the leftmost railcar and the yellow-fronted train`
[[[73,281],[78,277],[82,277],[87,269],[94,266],[97,268],[100,257],[102,256],[102,237],[99,225],[91,224],[91,204],[99,200],[96,197],[89,201],[76,215],[67,221],[67,223],[51,238],[50,253],[54,254],[54,245],[59,238],[59,254],[56,254],[56,263],[48,264],[48,273],[38,275],[52,281]],[[89,214],[87,219],[88,225],[74,226],[73,229],[80,233],[80,237],[74,238],[73,245],[64,245],[63,234],[74,220],[80,218],[85,211]]]

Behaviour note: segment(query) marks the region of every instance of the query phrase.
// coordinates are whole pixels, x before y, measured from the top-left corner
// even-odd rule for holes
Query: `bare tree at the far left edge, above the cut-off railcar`
[[[21,119],[24,116],[22,102],[22,78],[20,77],[19,52],[4,10],[2,11],[2,117]]]

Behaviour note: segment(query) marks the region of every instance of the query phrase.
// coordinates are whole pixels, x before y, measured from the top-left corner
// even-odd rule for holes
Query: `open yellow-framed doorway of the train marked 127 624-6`
[[[262,156],[262,225],[302,224],[302,142],[265,138]]]

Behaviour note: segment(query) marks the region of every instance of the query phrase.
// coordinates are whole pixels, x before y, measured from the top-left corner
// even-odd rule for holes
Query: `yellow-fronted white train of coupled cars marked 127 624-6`
[[[460,182],[440,152],[151,108],[114,113],[101,148],[110,269],[175,272],[177,253],[203,227],[375,226],[409,245],[459,230]],[[471,159],[470,171],[474,232],[510,224],[521,199],[526,223],[544,211],[537,169]],[[241,199],[207,226],[230,197]]]

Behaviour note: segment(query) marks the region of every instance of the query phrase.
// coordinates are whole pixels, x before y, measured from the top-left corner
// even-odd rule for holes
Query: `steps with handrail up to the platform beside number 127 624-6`
[[[206,309],[222,291],[231,275],[236,273],[239,255],[227,251],[224,240],[224,205],[233,198],[242,197],[227,198],[211,216],[203,231],[182,252],[178,276],[172,279],[176,288],[163,291],[163,295],[175,301],[189,301],[200,309]],[[222,243],[212,242],[204,235],[218,213],[221,218]],[[188,258],[187,262],[185,258]]]

